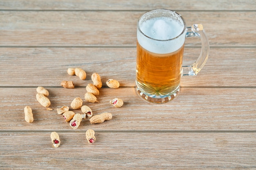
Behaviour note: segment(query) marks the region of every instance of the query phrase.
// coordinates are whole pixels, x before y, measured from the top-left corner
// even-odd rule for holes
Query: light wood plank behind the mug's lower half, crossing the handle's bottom
[[[192,64],[200,48],[185,48],[184,65]],[[182,77],[182,86],[256,87],[256,48],[212,48],[209,59],[196,77]],[[72,80],[86,86],[94,72],[103,85],[109,78],[121,86],[135,86],[134,48],[1,48],[0,86],[59,86]],[[67,74],[67,68],[81,67],[86,80]]]

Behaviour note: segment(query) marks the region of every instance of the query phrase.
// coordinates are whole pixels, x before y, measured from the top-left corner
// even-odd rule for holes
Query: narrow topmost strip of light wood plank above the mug
[[[173,10],[255,10],[254,0],[2,0],[4,10],[150,10],[167,8]]]

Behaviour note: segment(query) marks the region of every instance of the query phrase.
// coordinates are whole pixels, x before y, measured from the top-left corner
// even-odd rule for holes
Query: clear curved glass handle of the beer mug
[[[209,40],[206,33],[204,32],[202,24],[193,24],[193,26],[187,27],[187,29],[191,29],[192,32],[187,32],[186,38],[200,37],[202,42],[202,49],[198,59],[196,60],[196,62],[194,62],[194,64],[190,66],[182,66],[182,75],[197,75],[208,59],[210,50]]]

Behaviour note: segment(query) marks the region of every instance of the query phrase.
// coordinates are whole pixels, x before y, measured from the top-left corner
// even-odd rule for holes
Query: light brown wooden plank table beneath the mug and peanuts
[[[196,77],[182,77],[179,96],[166,104],[145,102],[135,91],[137,19],[155,8],[177,11],[188,26],[202,23],[210,42],[207,64]],[[256,169],[255,9],[255,0],[2,0],[0,169]],[[184,63],[200,49],[199,39],[188,38]],[[87,78],[68,75],[70,67],[83,68]],[[103,88],[92,104],[84,94],[94,72]],[[110,78],[118,89],[106,86]],[[75,88],[63,88],[63,80]],[[49,91],[53,111],[37,102],[38,86]],[[75,97],[112,120],[86,119],[73,130],[56,109]],[[115,97],[124,106],[111,106]],[[89,128],[93,144],[85,139]],[[52,131],[60,135],[58,148]]]

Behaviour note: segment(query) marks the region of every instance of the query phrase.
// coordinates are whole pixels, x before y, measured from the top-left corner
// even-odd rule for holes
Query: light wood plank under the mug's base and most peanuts
[[[94,114],[110,112],[112,120],[90,124],[83,120],[77,130],[256,130],[256,88],[182,88],[180,95],[166,104],[142,100],[135,88],[102,88],[99,103],[85,102],[85,88],[47,88],[53,111],[36,100],[35,88],[0,88],[1,130],[72,130],[56,108],[70,106],[75,97],[83,99]],[[115,108],[109,101],[121,98],[124,106]],[[30,106],[34,122],[24,119]],[[71,109],[72,110],[72,109]],[[74,110],[81,113],[81,110]]]

